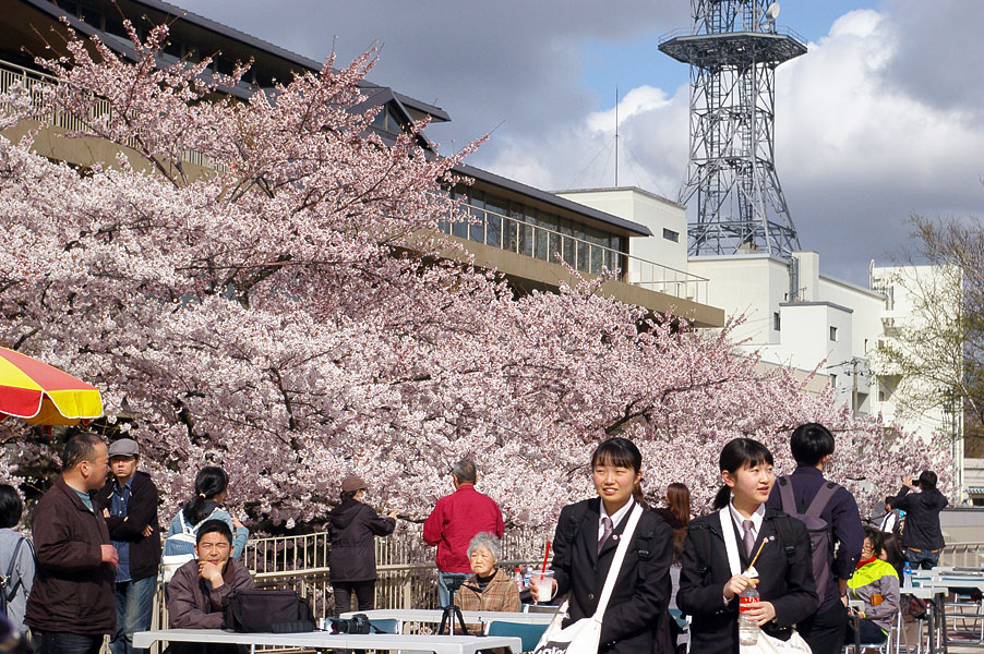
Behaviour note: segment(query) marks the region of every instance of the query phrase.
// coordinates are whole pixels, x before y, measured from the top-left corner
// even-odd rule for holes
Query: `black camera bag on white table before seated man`
[[[297,591],[236,591],[226,604],[226,629],[245,633],[315,631],[314,614]]]

